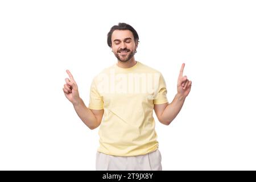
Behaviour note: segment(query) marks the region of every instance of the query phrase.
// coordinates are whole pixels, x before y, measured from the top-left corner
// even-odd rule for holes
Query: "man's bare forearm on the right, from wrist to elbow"
[[[166,106],[164,109],[161,118],[162,122],[165,125],[170,125],[170,123],[174,120],[174,118],[179,114],[183,104],[185,101],[185,97],[181,97],[179,94],[176,94],[174,100]]]

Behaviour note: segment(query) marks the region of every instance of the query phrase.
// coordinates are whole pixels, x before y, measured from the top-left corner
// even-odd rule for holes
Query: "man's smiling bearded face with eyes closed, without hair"
[[[126,62],[134,56],[137,46],[130,30],[115,30],[111,41],[112,51],[119,61]]]

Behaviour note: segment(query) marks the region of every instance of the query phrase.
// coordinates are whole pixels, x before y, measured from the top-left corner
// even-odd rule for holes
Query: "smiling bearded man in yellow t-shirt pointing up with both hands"
[[[162,74],[134,58],[138,43],[139,36],[129,24],[119,23],[110,29],[108,46],[117,57],[117,64],[93,78],[89,107],[80,98],[76,81],[67,70],[65,96],[86,126],[96,129],[101,125],[97,170],[162,170],[152,112],[155,110],[161,123],[170,125],[191,90],[192,82],[183,76],[183,63],[177,94],[168,104]]]

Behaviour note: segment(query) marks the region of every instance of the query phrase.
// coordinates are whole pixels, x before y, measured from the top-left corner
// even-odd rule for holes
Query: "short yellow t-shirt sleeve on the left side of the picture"
[[[103,101],[103,98],[100,96],[100,93],[98,93],[97,86],[94,79],[90,86],[89,109],[95,109],[95,110],[104,109],[104,101]]]

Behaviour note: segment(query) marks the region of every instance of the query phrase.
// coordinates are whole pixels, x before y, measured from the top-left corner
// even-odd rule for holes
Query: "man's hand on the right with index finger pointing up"
[[[177,93],[180,96],[187,97],[191,90],[192,81],[189,81],[187,76],[183,76],[184,67],[185,63],[180,68],[179,78],[177,80]]]

